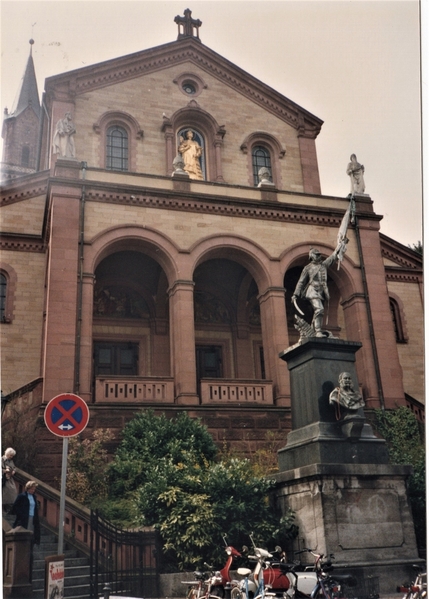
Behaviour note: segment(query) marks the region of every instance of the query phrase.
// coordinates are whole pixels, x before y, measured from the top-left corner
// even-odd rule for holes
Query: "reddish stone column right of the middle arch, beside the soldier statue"
[[[285,289],[269,287],[258,297],[261,308],[262,341],[265,373],[273,381],[275,404],[290,405],[289,377],[279,353],[289,345],[287,332]]]

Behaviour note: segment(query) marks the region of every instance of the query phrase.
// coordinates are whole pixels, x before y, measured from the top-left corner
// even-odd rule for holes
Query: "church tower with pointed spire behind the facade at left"
[[[33,44],[11,112],[4,109],[2,180],[15,179],[36,170],[40,100],[33,61]]]

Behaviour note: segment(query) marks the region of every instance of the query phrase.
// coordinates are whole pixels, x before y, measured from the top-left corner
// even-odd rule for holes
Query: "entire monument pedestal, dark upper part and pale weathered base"
[[[380,592],[392,593],[418,560],[406,492],[411,467],[388,464],[386,443],[362,409],[337,420],[329,404],[342,372],[359,389],[360,347],[309,338],[280,354],[290,371],[292,431],[278,452],[277,502],[296,514],[296,549],[334,553],[336,567],[377,577]]]

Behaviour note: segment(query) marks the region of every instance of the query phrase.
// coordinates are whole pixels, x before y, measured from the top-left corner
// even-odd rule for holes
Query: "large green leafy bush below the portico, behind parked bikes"
[[[224,457],[200,421],[181,413],[168,420],[151,411],[127,424],[109,468],[112,506],[124,499],[135,523],[158,529],[167,569],[218,564],[222,535],[241,547],[249,533],[262,544],[281,544],[297,532],[293,514],[280,518],[270,503],[274,483],[249,460]]]

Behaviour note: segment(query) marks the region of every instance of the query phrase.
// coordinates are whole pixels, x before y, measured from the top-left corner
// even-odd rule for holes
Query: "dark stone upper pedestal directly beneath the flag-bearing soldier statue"
[[[278,452],[281,471],[318,463],[387,464],[386,443],[369,424],[363,424],[358,436],[353,434],[354,421],[362,421],[363,411],[337,420],[329,404],[342,372],[350,372],[359,389],[355,354],[360,347],[354,341],[312,337],[280,354],[290,371],[292,407],[292,431]]]

